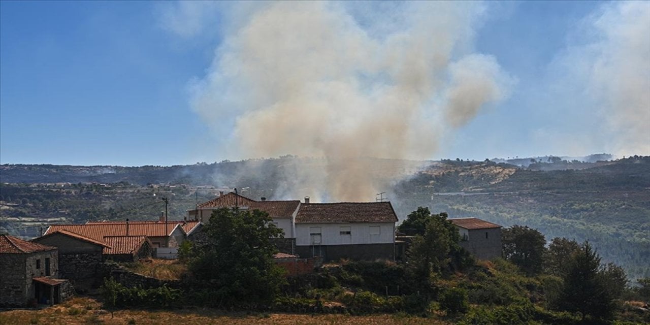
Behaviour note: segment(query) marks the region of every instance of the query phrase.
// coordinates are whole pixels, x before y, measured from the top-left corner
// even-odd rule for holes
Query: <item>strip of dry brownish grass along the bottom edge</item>
[[[224,313],[215,309],[179,311],[119,310],[109,312],[91,298],[73,298],[64,304],[41,310],[14,310],[0,312],[0,325],[19,324],[337,324],[337,325],[393,325],[393,324],[451,324],[432,318],[405,315],[302,315],[274,313]]]

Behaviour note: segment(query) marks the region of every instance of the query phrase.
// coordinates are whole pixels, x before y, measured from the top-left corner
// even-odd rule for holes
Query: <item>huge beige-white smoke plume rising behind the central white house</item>
[[[442,135],[512,83],[494,57],[473,53],[480,3],[274,2],[237,12],[192,107],[217,133],[234,130],[215,148],[222,154],[323,157],[287,168],[292,198],[374,199],[391,175],[377,177],[368,157],[430,159]]]

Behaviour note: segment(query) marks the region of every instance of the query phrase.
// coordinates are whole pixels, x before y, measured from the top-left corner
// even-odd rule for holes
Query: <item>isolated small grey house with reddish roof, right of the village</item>
[[[460,232],[460,246],[478,259],[501,257],[501,226],[478,218],[447,219]]]

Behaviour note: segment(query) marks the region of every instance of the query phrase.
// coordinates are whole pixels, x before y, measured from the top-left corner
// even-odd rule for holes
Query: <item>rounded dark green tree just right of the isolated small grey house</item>
[[[504,257],[528,275],[541,272],[545,243],[544,235],[527,226],[515,225],[501,233]]]

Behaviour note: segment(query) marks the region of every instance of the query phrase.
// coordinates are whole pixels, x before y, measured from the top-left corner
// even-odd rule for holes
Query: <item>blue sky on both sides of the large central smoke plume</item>
[[[206,121],[193,107],[192,87],[214,71],[220,57],[215,50],[246,25],[246,12],[259,10],[252,6],[229,3],[197,12],[153,1],[1,1],[0,163],[138,166],[246,158],[228,148],[236,141],[231,122],[215,127],[214,120]],[[581,53],[596,51],[598,58],[607,44],[617,44],[614,36],[589,40],[593,21],[604,20],[609,24],[605,30],[625,21],[617,20],[625,10],[614,6],[596,1],[486,3],[468,46],[493,56],[512,86],[506,98],[445,133],[430,158],[633,154],[636,148],[642,151],[636,153],[648,154],[643,142],[650,143],[650,131],[632,135],[641,143],[634,149],[608,142],[616,127],[594,132],[608,123],[602,116],[611,113],[589,105],[599,99],[585,95],[590,91],[580,88],[580,78],[571,79],[579,73],[562,70],[575,66],[571,59]],[[608,10],[623,14],[594,18],[610,17]],[[640,19],[645,18],[650,16],[643,11]],[[604,44],[604,49],[590,44]],[[634,70],[642,81],[650,79],[645,47],[640,47],[641,66]],[[650,110],[647,94],[650,89],[637,105],[642,125],[632,126],[640,130],[650,124],[644,121]]]

